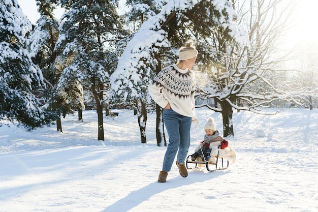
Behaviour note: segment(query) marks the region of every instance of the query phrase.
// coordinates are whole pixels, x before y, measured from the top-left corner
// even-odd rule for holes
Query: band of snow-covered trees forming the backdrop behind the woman
[[[297,13],[314,13],[310,1],[38,0],[33,24],[19,2],[1,1],[0,122],[30,130],[56,122],[62,132],[61,117],[77,110],[82,120],[81,111],[95,109],[104,140],[105,113],[131,108],[146,143],[155,110],[157,144],[166,145],[147,85],[188,39],[200,52],[196,107],[222,114],[225,137],[234,136],[234,110],[317,107],[316,33],[300,43],[301,30],[284,37],[301,23]]]

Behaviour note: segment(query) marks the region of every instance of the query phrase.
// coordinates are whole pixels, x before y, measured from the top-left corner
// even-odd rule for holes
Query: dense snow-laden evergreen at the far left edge
[[[27,50],[32,25],[16,0],[0,1],[0,121],[30,129],[51,122],[35,93],[45,88],[41,70]]]

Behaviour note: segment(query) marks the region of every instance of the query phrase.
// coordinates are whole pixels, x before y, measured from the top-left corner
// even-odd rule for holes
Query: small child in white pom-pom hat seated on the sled
[[[204,125],[204,131],[204,140],[201,141],[199,146],[196,148],[196,152],[191,155],[191,160],[193,161],[195,161],[199,156],[202,161],[208,160],[207,157],[210,156],[211,152],[217,149],[219,145],[221,145],[221,149],[225,149],[229,145],[229,142],[220,136],[219,131],[215,129],[214,119],[212,117],[207,119],[207,123]]]

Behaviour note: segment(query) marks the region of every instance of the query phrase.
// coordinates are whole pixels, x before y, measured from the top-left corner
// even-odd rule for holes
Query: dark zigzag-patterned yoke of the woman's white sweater
[[[181,73],[174,66],[169,66],[158,73],[153,83],[164,86],[171,94],[179,97],[189,97],[195,92],[193,73],[190,70]]]

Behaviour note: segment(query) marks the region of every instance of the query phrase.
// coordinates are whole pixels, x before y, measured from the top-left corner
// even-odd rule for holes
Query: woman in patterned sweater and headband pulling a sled
[[[198,51],[192,41],[179,49],[179,62],[164,68],[150,83],[148,89],[152,99],[164,108],[164,123],[169,136],[163,168],[158,182],[167,181],[177,155],[177,167],[181,176],[188,175],[184,160],[190,146],[191,123],[197,120],[195,113],[195,74],[191,70],[196,64]]]

